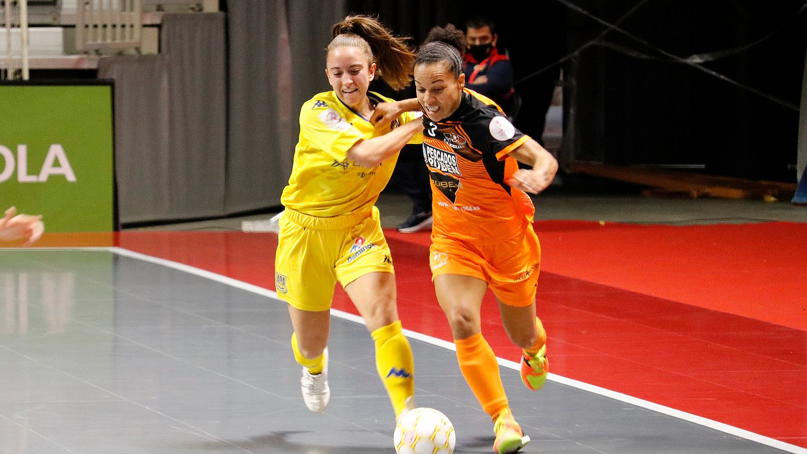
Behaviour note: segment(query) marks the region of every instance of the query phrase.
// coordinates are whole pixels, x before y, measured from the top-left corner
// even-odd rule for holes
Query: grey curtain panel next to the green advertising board
[[[223,13],[167,14],[161,53],[105,57],[115,80],[119,222],[224,215],[226,51]]]

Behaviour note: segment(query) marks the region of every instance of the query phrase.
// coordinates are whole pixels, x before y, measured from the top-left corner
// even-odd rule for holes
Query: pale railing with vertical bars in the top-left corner
[[[6,38],[5,58],[0,61],[0,80],[28,80],[28,2],[0,0],[0,32]],[[15,45],[19,42],[19,46]]]

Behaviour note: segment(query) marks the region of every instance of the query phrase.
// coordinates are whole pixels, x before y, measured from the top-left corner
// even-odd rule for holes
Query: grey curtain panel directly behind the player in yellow
[[[228,2],[228,214],[282,208],[299,107],[330,90],[324,48],[344,14],[341,2]]]

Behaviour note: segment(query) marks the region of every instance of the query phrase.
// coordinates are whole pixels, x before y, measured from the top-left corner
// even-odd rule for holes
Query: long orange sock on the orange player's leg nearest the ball
[[[491,418],[508,407],[504,385],[499,375],[499,363],[482,333],[470,338],[454,339],[457,346],[457,360],[462,376],[474,392],[482,410]]]

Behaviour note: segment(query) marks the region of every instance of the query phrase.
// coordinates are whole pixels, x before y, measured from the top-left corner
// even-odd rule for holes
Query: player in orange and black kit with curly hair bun
[[[549,365],[546,332],[535,309],[541,248],[526,192],[546,189],[558,162],[514,128],[491,99],[465,88],[465,48],[465,36],[453,25],[434,27],[415,61],[417,104],[410,99],[392,107],[424,112],[434,288],[462,375],[494,422],[495,451],[505,454],[520,450],[529,437],[510,411],[499,364],[482,335],[480,312],[491,288],[504,329],[523,349],[521,379],[527,388],[540,389]],[[530,168],[520,169],[518,162]]]

